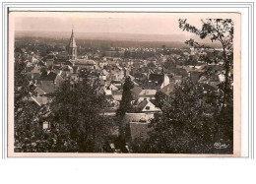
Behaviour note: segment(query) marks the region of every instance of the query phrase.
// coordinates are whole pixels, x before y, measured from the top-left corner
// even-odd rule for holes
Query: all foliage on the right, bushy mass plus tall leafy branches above
[[[163,106],[162,114],[152,120],[153,131],[147,140],[137,139],[132,143],[134,153],[232,153],[233,152],[233,23],[226,19],[202,21],[202,30],[179,20],[179,28],[190,31],[223,45],[223,57],[209,58],[200,55],[208,63],[224,62],[224,83],[218,92],[207,92],[200,84],[183,80],[175,86],[170,105]],[[199,52],[210,49],[193,39],[186,43]],[[217,52],[214,52],[217,54]],[[218,59],[219,60],[218,60]],[[213,71],[207,70],[205,75]],[[218,149],[215,144],[226,144]]]

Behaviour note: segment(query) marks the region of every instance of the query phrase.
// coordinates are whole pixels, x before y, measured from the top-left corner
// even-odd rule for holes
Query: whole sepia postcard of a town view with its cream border
[[[239,156],[240,14],[9,17],[10,156]]]

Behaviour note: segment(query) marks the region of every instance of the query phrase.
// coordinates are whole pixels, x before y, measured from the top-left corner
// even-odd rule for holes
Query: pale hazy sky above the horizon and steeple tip
[[[120,32],[140,34],[183,34],[178,19],[200,28],[198,14],[177,13],[11,13],[15,17],[15,31],[71,31]],[[213,14],[212,14],[213,15]],[[188,33],[189,34],[189,33]]]

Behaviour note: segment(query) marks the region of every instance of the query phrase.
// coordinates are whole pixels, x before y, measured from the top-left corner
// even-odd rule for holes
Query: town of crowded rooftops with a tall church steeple
[[[107,149],[98,152],[136,153],[138,140],[148,139],[149,132],[155,131],[150,126],[152,120],[164,113],[166,106],[172,105],[172,96],[184,81],[200,87],[204,95],[218,95],[221,93],[219,85],[224,83],[223,50],[220,48],[198,49],[185,44],[182,48],[106,44],[85,47],[78,44],[85,40],[76,39],[73,30],[69,39],[48,38],[44,42],[38,39],[17,37],[15,40],[15,62],[25,64],[21,74],[29,81],[27,104],[38,109],[37,114],[43,114],[40,115],[43,118],[36,120],[36,128],[49,133],[56,127],[47,117],[52,111],[54,93],[63,83],[82,84],[86,80],[88,87],[96,87],[96,94],[104,96],[98,110],[101,123],[111,122],[104,138]],[[212,72],[205,75],[210,70]],[[207,115],[211,116],[211,112]],[[26,152],[24,145],[27,149],[30,145],[28,152],[58,152],[34,149],[38,141],[22,144],[18,140],[16,152]]]

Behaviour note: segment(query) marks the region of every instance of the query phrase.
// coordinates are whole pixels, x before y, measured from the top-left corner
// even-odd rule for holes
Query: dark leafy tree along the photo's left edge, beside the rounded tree
[[[15,62],[15,152],[36,152],[35,142],[41,140],[42,130],[38,125],[40,107],[30,102],[31,86],[25,73],[24,61]]]

